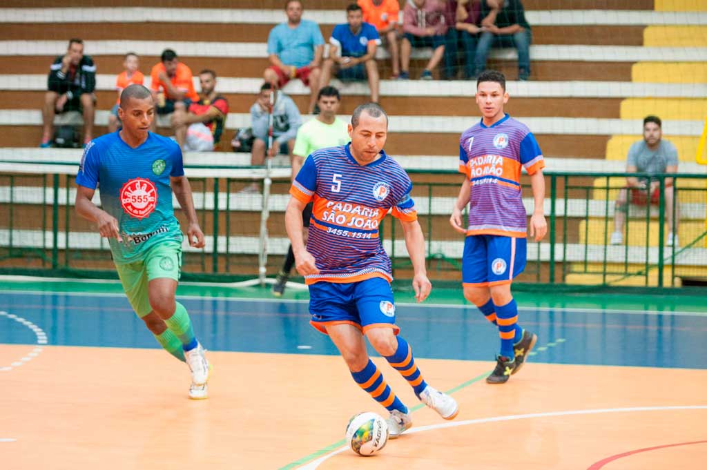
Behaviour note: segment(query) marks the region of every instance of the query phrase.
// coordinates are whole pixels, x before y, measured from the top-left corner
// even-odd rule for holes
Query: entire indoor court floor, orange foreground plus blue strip
[[[249,302],[184,300],[214,364],[210,399],[189,401],[186,366],[153,347],[121,298],[0,293],[0,469],[705,468],[707,316],[521,313],[536,354],[492,386],[480,314],[401,306],[426,381],[460,413],[416,406],[375,358],[416,406],[414,427],[363,458],[341,451],[346,423],[385,410],[306,326],[305,303]]]

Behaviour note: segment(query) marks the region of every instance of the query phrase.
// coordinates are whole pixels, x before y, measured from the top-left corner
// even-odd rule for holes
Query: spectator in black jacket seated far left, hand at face
[[[47,94],[42,108],[44,130],[40,147],[52,146],[54,115],[66,111],[83,111],[84,145],[93,139],[95,115],[95,65],[93,59],[83,55],[83,41],[69,40],[66,54],[54,59],[49,66]]]

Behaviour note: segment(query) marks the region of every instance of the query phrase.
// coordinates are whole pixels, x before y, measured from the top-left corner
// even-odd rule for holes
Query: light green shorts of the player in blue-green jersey
[[[182,267],[182,245],[165,240],[147,250],[144,259],[128,264],[116,264],[120,283],[138,317],[152,311],[148,282],[157,278],[179,281]]]

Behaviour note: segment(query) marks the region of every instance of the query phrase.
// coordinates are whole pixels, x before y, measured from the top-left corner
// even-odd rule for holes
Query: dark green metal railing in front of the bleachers
[[[35,165],[37,166],[37,165]],[[41,165],[39,165],[41,166]],[[107,242],[74,211],[74,165],[52,165],[49,174],[0,169],[0,274],[114,277]],[[38,168],[37,171],[47,171]],[[413,197],[426,236],[428,273],[438,281],[460,281],[464,237],[452,230],[449,214],[460,187],[453,172],[410,171]],[[243,192],[256,182],[257,169],[187,168],[194,203],[206,234],[204,249],[185,247],[183,278],[236,281],[258,276],[262,191]],[[706,175],[654,175],[657,206],[630,206],[620,245],[611,245],[617,194],[626,173],[548,172],[544,211],[548,235],[528,240],[521,283],[556,286],[677,287],[685,280],[707,280]],[[286,254],[284,208],[289,199],[288,169],[274,170],[269,197],[269,264],[276,274]],[[674,180],[679,208],[679,245],[666,246],[665,179]],[[530,184],[523,198],[532,211]],[[650,195],[648,195],[650,201]],[[176,201],[175,201],[176,206]],[[673,211],[675,213],[675,210]],[[183,222],[181,211],[177,218]],[[394,275],[411,277],[402,230],[392,218],[381,225]]]

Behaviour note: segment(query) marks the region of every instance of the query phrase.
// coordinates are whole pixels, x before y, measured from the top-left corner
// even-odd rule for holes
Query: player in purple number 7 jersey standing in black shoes
[[[486,382],[503,384],[522,367],[537,335],[518,325],[518,306],[510,293],[513,278],[525,269],[526,212],[520,192],[520,170],[530,175],[534,211],[530,236],[547,233],[543,213],[545,182],[542,152],[525,124],[503,112],[508,102],[506,77],[484,71],[477,80],[481,120],[462,133],[459,171],[464,182],[450,223],[466,235],[462,257],[464,298],[498,326],[501,351]],[[469,204],[469,221],[462,210]]]

